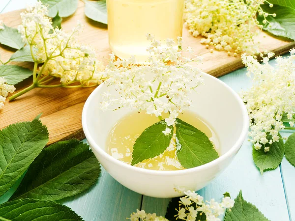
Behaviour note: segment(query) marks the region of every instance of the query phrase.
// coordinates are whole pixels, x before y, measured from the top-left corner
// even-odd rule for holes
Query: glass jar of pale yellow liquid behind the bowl
[[[182,35],[184,0],[107,0],[111,50],[120,58],[135,55],[139,63],[149,56],[146,34],[163,41]]]

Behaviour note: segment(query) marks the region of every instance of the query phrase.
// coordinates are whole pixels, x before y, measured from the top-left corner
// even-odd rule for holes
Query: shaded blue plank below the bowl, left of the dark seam
[[[59,202],[69,206],[85,221],[124,221],[140,208],[142,195],[119,184],[102,170],[89,191]]]

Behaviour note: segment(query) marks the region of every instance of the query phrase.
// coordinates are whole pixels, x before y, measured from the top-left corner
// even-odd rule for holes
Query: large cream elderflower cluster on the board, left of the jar
[[[31,49],[33,60],[44,63],[39,74],[42,77],[58,77],[62,85],[79,82],[82,86],[99,84],[103,79],[103,65],[96,60],[95,52],[76,41],[82,31],[81,23],[66,33],[54,29],[47,15],[47,7],[38,1],[21,13],[22,24],[18,30]]]

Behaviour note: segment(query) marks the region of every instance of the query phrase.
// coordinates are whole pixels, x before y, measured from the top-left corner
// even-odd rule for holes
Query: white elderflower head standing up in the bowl
[[[170,126],[174,124],[178,113],[191,105],[189,95],[192,91],[204,84],[202,73],[189,63],[194,59],[181,56],[180,37],[177,44],[167,39],[167,47],[162,47],[152,35],[148,34],[147,37],[151,46],[147,49],[150,56],[146,64],[135,64],[133,57],[116,60],[115,55],[111,55],[106,68],[109,78],[105,83],[115,90],[113,94],[103,94],[101,109],[111,110],[111,106],[116,105],[117,109],[127,107],[146,111],[160,119],[164,113],[168,113],[165,122]],[[188,48],[188,51],[191,49]],[[118,96],[112,96],[114,93],[118,93]],[[171,129],[163,133],[170,134]]]

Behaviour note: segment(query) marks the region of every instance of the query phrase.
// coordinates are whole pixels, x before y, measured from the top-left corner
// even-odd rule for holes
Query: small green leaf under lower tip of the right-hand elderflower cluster
[[[277,168],[283,160],[285,146],[283,139],[280,136],[280,140],[278,142],[273,142],[271,145],[266,143],[266,147],[269,146],[269,151],[265,152],[264,147],[260,150],[256,150],[253,145],[252,156],[255,165],[259,168],[260,173],[263,174],[266,170],[273,170]],[[271,139],[270,137],[267,138]]]

